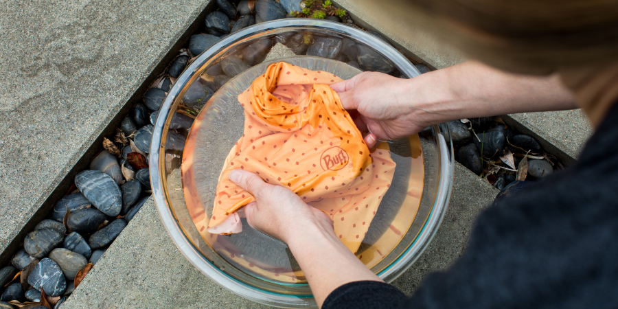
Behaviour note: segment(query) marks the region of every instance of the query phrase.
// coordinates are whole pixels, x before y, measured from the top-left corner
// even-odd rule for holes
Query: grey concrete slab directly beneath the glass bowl
[[[453,196],[433,242],[413,267],[394,282],[411,294],[431,271],[461,255],[474,218],[498,193],[456,163]],[[211,282],[176,249],[148,201],[69,297],[73,308],[267,308]]]

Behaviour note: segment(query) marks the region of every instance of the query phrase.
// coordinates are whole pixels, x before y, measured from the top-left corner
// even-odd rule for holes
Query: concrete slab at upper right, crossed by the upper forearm
[[[466,61],[466,56],[448,42],[435,36],[429,25],[418,23],[407,10],[391,8],[398,1],[337,0],[353,17],[370,30],[376,30],[391,40],[404,54],[430,67],[442,69]],[[509,115],[520,131],[532,133],[546,150],[565,163],[577,158],[586,139],[593,132],[579,111],[524,113]]]

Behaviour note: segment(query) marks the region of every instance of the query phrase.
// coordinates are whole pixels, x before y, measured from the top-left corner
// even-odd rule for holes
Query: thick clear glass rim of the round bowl
[[[194,58],[181,76],[176,79],[176,82],[168,92],[168,95],[159,109],[159,115],[163,115],[163,117],[157,119],[152,129],[149,159],[150,183],[152,185],[152,196],[155,200],[155,205],[157,206],[157,211],[159,212],[163,227],[165,227],[165,230],[168,232],[172,242],[174,242],[179,251],[181,251],[185,258],[198,269],[198,271],[203,273],[203,275],[216,282],[219,286],[229,290],[231,293],[260,304],[285,308],[307,308],[316,306],[312,295],[284,295],[260,290],[259,288],[239,282],[226,273],[223,273],[218,267],[204,258],[202,253],[200,253],[187,236],[185,236],[174,214],[172,214],[165,190],[163,189],[161,177],[165,175],[161,174],[161,158],[159,157],[159,150],[164,150],[163,146],[161,146],[161,138],[163,137],[164,129],[169,126],[168,114],[170,113],[170,109],[186,86],[190,85],[196,71],[198,71],[209,58],[218,54],[222,49],[226,49],[230,45],[233,45],[233,43],[244,38],[249,38],[256,33],[277,30],[282,27],[306,27],[312,28],[312,30],[334,31],[339,34],[352,36],[356,41],[364,43],[367,46],[382,47],[382,49],[380,49],[380,54],[391,60],[391,62],[398,67],[399,71],[408,78],[420,75],[416,67],[388,42],[382,41],[382,39],[377,36],[356,27],[351,27],[342,23],[317,19],[279,19],[246,27],[238,32],[229,34],[206,49],[202,54]],[[440,133],[441,131],[446,133],[446,139],[449,139],[448,142],[450,143],[448,127],[444,126],[444,128],[440,130],[439,126],[434,126],[434,133],[437,137],[437,147],[441,148],[439,152],[441,155],[439,157],[440,173],[438,188],[447,190],[438,190],[433,208],[423,228],[419,232],[417,239],[414,240],[410,247],[404,251],[398,259],[378,273],[378,276],[382,277],[387,282],[393,281],[419,258],[429,242],[431,242],[433,236],[435,236],[440,222],[442,222],[442,218],[444,217],[444,213],[446,212],[453,184],[453,146],[451,144],[450,149],[448,148],[446,139]],[[439,216],[435,216],[435,214],[439,214]]]

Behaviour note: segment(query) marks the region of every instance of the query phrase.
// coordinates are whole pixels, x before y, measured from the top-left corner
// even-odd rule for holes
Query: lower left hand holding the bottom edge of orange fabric
[[[256,202],[244,207],[251,227],[289,243],[295,233],[310,225],[332,230],[332,220],[322,211],[304,203],[292,190],[265,183],[260,176],[233,170],[229,180],[247,190]]]

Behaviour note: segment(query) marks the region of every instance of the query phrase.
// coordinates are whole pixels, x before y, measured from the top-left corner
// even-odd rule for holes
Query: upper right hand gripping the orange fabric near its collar
[[[369,148],[382,140],[400,139],[420,132],[429,124],[414,117],[415,108],[406,91],[411,80],[394,78],[385,73],[363,72],[350,80],[330,87],[339,94],[343,108],[355,118],[358,130],[369,131],[365,142]],[[356,111],[360,117],[356,117]]]

